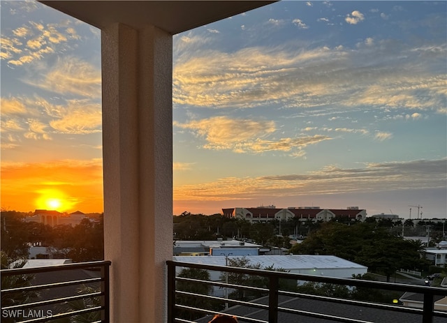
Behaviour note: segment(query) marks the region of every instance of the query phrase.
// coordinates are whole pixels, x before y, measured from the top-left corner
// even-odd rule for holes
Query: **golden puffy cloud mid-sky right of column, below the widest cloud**
[[[270,137],[277,130],[274,121],[212,117],[189,123],[174,123],[174,126],[192,130],[196,136],[205,139],[206,143],[202,146],[205,149],[232,150],[235,153],[282,151],[296,154],[309,144],[330,140],[330,137],[324,135],[272,139]],[[303,153],[298,155],[303,156]]]

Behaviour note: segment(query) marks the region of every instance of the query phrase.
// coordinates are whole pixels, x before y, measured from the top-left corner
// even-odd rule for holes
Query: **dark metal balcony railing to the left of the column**
[[[109,267],[99,261],[1,270],[1,322],[109,322]]]

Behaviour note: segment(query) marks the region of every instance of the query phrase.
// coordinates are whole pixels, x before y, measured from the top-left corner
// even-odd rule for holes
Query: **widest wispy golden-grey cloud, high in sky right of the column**
[[[175,63],[173,103],[439,110],[445,106],[447,77],[430,71],[430,64],[444,61],[446,54],[444,47],[409,48],[374,38],[355,49],[247,47],[226,53],[200,48]],[[415,66],[420,73],[411,72]]]

